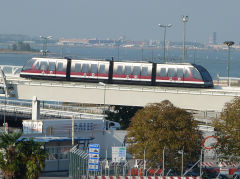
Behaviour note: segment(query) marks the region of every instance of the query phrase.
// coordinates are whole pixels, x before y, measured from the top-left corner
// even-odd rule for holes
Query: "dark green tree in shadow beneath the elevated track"
[[[118,122],[121,125],[121,129],[129,127],[131,118],[142,107],[137,106],[113,106],[113,111],[106,111],[107,120]]]

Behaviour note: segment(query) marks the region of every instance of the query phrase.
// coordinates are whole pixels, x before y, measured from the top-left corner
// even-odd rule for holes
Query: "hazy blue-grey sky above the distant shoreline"
[[[0,34],[182,41],[240,41],[240,0],[0,0]]]

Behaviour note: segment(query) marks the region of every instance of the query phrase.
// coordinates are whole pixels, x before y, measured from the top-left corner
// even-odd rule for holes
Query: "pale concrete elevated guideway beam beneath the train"
[[[169,100],[174,105],[191,110],[221,111],[224,104],[240,96],[240,88],[196,89],[175,87],[153,87],[135,85],[114,85],[98,83],[41,81],[6,75],[8,96],[17,99],[106,105],[145,106],[149,103]]]

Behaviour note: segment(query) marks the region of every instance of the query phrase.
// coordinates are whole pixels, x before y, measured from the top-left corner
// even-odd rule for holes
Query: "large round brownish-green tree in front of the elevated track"
[[[169,101],[155,103],[139,110],[127,129],[129,151],[137,159],[144,158],[151,167],[181,169],[182,150],[184,164],[200,158],[202,135],[197,122],[187,111],[173,106]]]

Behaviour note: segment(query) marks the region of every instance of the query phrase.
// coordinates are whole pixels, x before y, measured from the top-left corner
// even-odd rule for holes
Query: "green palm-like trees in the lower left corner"
[[[7,179],[38,178],[47,154],[41,143],[20,136],[21,133],[0,135],[0,169]]]

